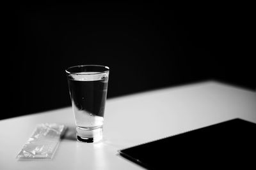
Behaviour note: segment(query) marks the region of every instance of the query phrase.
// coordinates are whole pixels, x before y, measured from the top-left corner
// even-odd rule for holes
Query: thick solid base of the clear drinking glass
[[[97,128],[76,127],[77,141],[95,143],[102,139],[102,126]]]

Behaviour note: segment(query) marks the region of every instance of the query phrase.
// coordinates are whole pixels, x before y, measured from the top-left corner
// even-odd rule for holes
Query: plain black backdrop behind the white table
[[[108,97],[208,79],[255,89],[248,6],[8,4],[0,118],[70,106],[64,69],[77,64],[111,68]]]

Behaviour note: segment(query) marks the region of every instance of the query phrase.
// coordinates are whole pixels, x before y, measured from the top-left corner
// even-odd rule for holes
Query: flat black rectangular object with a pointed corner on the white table
[[[147,169],[255,167],[255,138],[256,124],[236,118],[118,152]]]

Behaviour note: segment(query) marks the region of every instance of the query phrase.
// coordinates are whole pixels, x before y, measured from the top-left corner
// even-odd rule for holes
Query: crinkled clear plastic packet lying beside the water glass
[[[65,125],[38,124],[16,158],[52,159],[64,131]]]

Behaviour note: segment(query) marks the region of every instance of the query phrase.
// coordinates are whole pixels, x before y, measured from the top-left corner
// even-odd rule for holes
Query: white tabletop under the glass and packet
[[[0,169],[143,169],[117,150],[237,117],[256,123],[256,93],[205,81],[108,99],[99,143],[76,141],[71,107],[9,118],[0,120]],[[69,127],[53,159],[15,159],[40,123]]]

